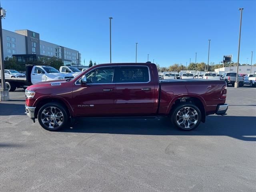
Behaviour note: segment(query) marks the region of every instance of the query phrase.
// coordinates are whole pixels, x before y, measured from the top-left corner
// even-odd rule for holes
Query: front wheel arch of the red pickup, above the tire
[[[42,96],[42,97],[39,97],[33,104],[33,106],[36,106],[36,110],[35,110],[36,118],[37,118],[38,111],[40,110],[40,108],[44,104],[49,103],[49,102],[57,102],[57,103],[62,104],[66,108],[68,116],[71,116],[71,117],[74,116],[74,111],[72,110],[72,107],[64,98],[58,97],[58,96],[54,96],[54,97]]]

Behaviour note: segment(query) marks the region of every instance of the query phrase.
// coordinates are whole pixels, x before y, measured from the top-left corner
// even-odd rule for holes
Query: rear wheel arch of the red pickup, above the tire
[[[167,114],[172,114],[172,112],[174,111],[176,106],[178,106],[182,102],[195,104],[200,109],[200,112],[202,114],[201,121],[203,123],[205,122],[205,118],[206,118],[206,111],[205,111],[206,103],[205,103],[204,99],[201,96],[196,95],[196,94],[194,94],[192,96],[191,95],[177,96],[174,99],[172,99],[172,101],[170,102],[170,104],[168,106]]]

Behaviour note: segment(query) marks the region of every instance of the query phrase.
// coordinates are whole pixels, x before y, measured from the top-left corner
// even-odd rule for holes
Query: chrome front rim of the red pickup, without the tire
[[[41,113],[42,123],[50,128],[58,128],[62,125],[64,115],[57,107],[46,107]]]

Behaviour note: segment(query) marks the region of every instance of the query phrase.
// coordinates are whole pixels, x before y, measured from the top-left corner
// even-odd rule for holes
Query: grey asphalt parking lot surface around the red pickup
[[[81,119],[49,132],[0,103],[0,191],[255,192],[256,88],[228,87],[228,115],[184,132],[166,118]]]

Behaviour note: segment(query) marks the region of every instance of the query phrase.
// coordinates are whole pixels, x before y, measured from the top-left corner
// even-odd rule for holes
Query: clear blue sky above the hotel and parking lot
[[[256,1],[12,1],[2,28],[28,29],[40,39],[79,50],[82,61],[109,62],[109,16],[112,20],[112,62],[155,61],[160,66],[210,62],[233,54],[237,62],[240,12],[243,7],[240,63],[251,51],[256,63]],[[83,62],[82,62],[83,63]]]

